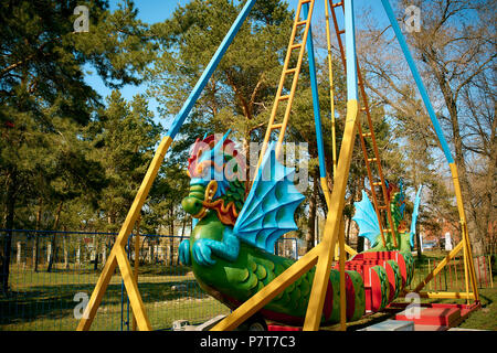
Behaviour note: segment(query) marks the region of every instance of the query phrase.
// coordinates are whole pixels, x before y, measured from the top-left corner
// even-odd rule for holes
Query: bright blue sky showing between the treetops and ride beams
[[[115,10],[118,8],[119,0],[110,0],[110,10]],[[162,22],[166,19],[170,18],[172,12],[179,7],[184,6],[191,0],[135,0],[135,7],[138,9],[138,18],[146,22],[146,23],[157,23]],[[286,2],[289,3],[290,9],[296,9],[298,4],[298,0],[286,0]],[[378,15],[378,19],[381,21],[385,21],[387,17],[383,13],[383,9],[380,4],[380,1],[377,1],[378,6],[373,7],[373,13]],[[371,2],[369,0],[355,0],[355,9],[356,9],[356,15],[360,13],[361,10],[363,10],[367,7],[371,7]],[[324,21],[325,18],[325,0],[317,0],[315,6],[315,12],[313,15],[313,23],[322,23],[320,21]],[[315,24],[315,26],[316,26]],[[357,23],[358,26],[360,26],[360,23]],[[87,67],[87,69],[92,71],[91,67]],[[86,77],[86,82],[88,85],[91,85],[94,89],[98,92],[104,98],[108,96],[112,92],[108,87],[104,85],[102,79],[95,75],[88,75]],[[144,93],[146,90],[146,86],[125,86],[120,89],[120,93],[123,97],[130,100],[133,99],[133,96],[136,94]],[[149,108],[154,111],[154,114],[157,114],[157,103],[154,101],[154,99],[149,100]]]

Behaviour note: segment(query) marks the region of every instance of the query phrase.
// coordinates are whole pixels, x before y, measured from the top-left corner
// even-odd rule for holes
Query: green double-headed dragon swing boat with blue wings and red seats
[[[297,229],[294,213],[304,196],[294,185],[295,170],[281,164],[269,147],[262,167],[245,197],[241,171],[244,157],[234,148],[228,133],[198,139],[189,159],[190,193],[182,206],[198,220],[190,239],[179,247],[179,257],[192,266],[193,274],[208,293],[231,309],[246,301],[269,284],[294,260],[276,256],[274,245],[287,232]],[[380,245],[378,220],[363,192],[356,203],[355,221],[360,236],[373,246],[346,263],[347,320],[360,319],[366,310],[378,311],[409,286],[413,274],[411,246],[413,233],[405,228],[404,193],[391,188],[391,207],[395,215],[399,249],[391,242]],[[417,193],[411,229],[416,222]],[[398,227],[398,225],[401,225]],[[393,250],[393,252],[392,252]],[[314,270],[282,291],[260,313],[269,320],[302,324],[313,285]],[[340,319],[339,271],[331,270],[322,323]]]

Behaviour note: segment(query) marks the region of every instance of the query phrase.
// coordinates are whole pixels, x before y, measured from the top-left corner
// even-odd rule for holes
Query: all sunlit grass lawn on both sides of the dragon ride
[[[444,252],[431,252],[425,253],[421,260],[416,257],[416,269],[411,289],[433,269],[433,260],[440,260],[444,256]],[[462,265],[461,258],[452,261],[451,271],[446,268],[436,278],[436,290],[465,291]],[[74,296],[77,292],[91,296],[98,277],[99,272],[95,272],[91,265],[62,269],[62,264],[59,264],[51,274],[44,271],[44,268],[34,272],[31,268],[12,266],[10,296],[0,296],[0,330],[75,330],[78,320],[74,318],[74,308],[78,302],[74,301]],[[494,276],[494,282],[496,281],[497,277]],[[154,330],[168,329],[175,320],[186,319],[191,323],[200,323],[216,314],[230,312],[226,307],[200,289],[188,267],[141,266],[138,282]],[[434,291],[434,281],[425,290]],[[461,328],[497,331],[497,289],[480,288],[479,293],[483,308],[473,312]],[[422,302],[465,303],[465,300],[422,299]],[[124,321],[127,320],[126,303],[125,295]],[[385,320],[389,315],[391,313],[380,312],[348,325],[353,330],[371,322]],[[110,280],[92,330],[118,331],[120,329],[121,280],[116,274]],[[124,330],[127,330],[126,325]]]

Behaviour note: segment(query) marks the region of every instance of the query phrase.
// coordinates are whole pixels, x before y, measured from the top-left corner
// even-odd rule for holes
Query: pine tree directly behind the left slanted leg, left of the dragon
[[[116,232],[126,216],[160,136],[142,96],[126,101],[119,92],[107,97],[107,107],[88,128],[94,150],[92,160],[102,165],[108,185],[102,191],[98,210],[105,215],[102,227]]]

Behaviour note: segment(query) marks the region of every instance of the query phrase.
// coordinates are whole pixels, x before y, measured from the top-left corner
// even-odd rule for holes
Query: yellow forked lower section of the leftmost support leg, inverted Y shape
[[[129,208],[125,222],[117,235],[116,243],[110,250],[109,258],[105,263],[102,270],[101,277],[97,280],[95,289],[93,290],[92,297],[89,298],[88,304],[86,306],[83,318],[81,319],[77,331],[87,331],[95,319],[96,311],[102,303],[102,299],[107,290],[108,284],[110,281],[116,267],[119,266],[120,272],[123,275],[123,280],[128,291],[129,302],[131,304],[133,314],[137,318],[137,325],[139,330],[151,330],[150,322],[148,321],[147,314],[145,312],[144,303],[141,301],[140,293],[138,291],[138,286],[133,277],[131,267],[126,257],[125,246],[128,240],[131,229],[140,214],[141,207],[144,206],[145,200],[148,196],[150,188],[154,180],[159,172],[160,164],[162,163],[166,153],[171,146],[172,139],[167,136],[160,142],[156,154],[147,170],[147,173],[141,182],[140,189]],[[126,276],[125,276],[126,275]]]

